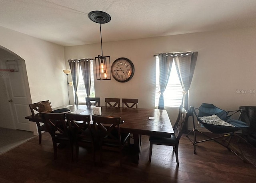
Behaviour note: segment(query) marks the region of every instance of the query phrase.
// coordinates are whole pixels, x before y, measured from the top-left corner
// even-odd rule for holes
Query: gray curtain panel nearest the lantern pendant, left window
[[[84,79],[84,86],[87,97],[90,97],[91,90],[91,59],[81,59],[80,66],[82,69],[82,75]]]

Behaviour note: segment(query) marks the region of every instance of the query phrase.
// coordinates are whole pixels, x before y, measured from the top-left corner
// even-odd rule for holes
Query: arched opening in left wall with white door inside
[[[30,115],[28,104],[31,103],[24,59],[0,46],[1,69],[13,72],[0,76],[0,127],[31,131],[36,135],[36,125],[24,118]]]

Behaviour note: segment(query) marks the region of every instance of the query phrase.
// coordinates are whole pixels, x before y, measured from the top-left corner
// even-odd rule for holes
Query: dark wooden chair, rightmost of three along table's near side
[[[102,162],[102,150],[112,150],[119,152],[121,166],[122,149],[130,137],[130,133],[120,132],[121,118],[92,115],[92,121],[100,142],[100,162]]]

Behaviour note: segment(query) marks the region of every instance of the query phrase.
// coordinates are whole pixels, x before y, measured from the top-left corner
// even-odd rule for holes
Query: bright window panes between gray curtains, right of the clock
[[[176,71],[174,61],[172,62],[172,70],[168,85],[164,91],[164,106],[166,107],[179,107],[182,101],[183,89],[180,85],[180,80]],[[159,86],[159,59],[156,57],[156,97],[155,106],[158,106],[160,97],[160,86]]]

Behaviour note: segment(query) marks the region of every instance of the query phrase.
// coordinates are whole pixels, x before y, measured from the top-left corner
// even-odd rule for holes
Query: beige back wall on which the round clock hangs
[[[126,57],[133,62],[135,73],[127,83],[118,83],[114,79],[94,81],[96,96],[101,98],[101,104],[104,104],[105,97],[139,98],[140,108],[154,108],[153,55],[198,51],[189,105],[199,107],[202,102],[213,103],[224,110],[256,105],[256,93],[247,92],[256,92],[255,37],[256,28],[244,28],[103,43],[103,54],[110,56],[111,64],[119,57]],[[94,58],[101,53],[101,49],[100,44],[80,45],[64,47],[64,53],[65,60]],[[239,94],[237,90],[246,93]],[[166,109],[174,123],[177,109]]]

